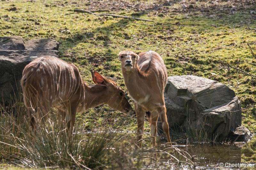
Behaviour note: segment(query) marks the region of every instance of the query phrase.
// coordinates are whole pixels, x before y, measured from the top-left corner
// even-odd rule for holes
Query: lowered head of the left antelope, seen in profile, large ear
[[[91,70],[91,73],[93,82],[101,89],[103,88],[103,104],[125,114],[131,114],[132,106],[125,98],[124,91],[114,81],[107,79],[97,71]]]

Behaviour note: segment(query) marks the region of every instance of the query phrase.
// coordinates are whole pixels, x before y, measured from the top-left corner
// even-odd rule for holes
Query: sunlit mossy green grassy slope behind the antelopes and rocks
[[[235,4],[236,1],[219,4],[191,1],[192,6],[188,8],[188,1],[174,1],[171,6],[157,9],[156,4],[163,2],[154,2],[157,1],[141,1],[140,9],[145,11],[136,12],[126,9],[125,5],[108,1],[105,4],[69,0],[1,1],[0,36],[55,39],[60,42],[60,57],[75,63],[88,84],[92,84],[89,69],[93,68],[115,80],[124,90],[118,52],[124,49],[134,52],[155,50],[163,56],[169,76],[193,74],[217,80],[236,92],[242,107],[253,104],[256,100],[255,82],[252,84],[250,77],[241,74],[221,71],[218,60],[256,62],[246,45],[248,42],[255,49],[256,32],[244,29],[247,25],[256,27],[255,11],[250,13],[255,5],[244,3],[242,6]],[[136,2],[131,1],[130,4]],[[18,12],[8,11],[13,6]],[[154,22],[98,17],[72,11],[92,7],[95,7],[94,10],[104,8],[113,10],[111,13],[153,19]],[[231,11],[232,8],[235,10]],[[241,66],[252,74],[256,73],[255,65],[245,63]],[[254,133],[255,112],[255,109],[243,111],[243,124]],[[135,119],[107,106],[77,115],[77,120],[84,121],[88,129],[115,126],[136,130]],[[149,130],[146,123],[146,131]],[[256,153],[253,147],[249,149],[252,154]],[[244,158],[249,160],[252,157],[247,155]]]

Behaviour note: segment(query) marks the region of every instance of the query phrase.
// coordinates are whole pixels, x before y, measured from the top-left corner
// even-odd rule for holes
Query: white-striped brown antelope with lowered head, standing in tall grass
[[[36,121],[44,123],[51,107],[57,108],[58,123],[67,125],[70,132],[73,132],[76,112],[101,104],[123,113],[132,112],[124,91],[114,81],[97,71],[91,70],[91,73],[94,86],[82,80],[75,65],[57,57],[45,56],[30,62],[23,70],[21,86],[31,130],[35,132]]]

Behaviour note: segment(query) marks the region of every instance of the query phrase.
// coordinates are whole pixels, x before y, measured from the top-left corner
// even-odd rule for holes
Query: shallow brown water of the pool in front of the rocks
[[[90,134],[92,132],[84,132],[83,134]],[[113,133],[135,133],[132,131],[113,131]],[[163,143],[164,144],[164,143]],[[195,145],[172,145],[181,150],[187,151],[191,156],[194,156],[196,169],[245,169],[239,167],[229,167],[231,164],[241,164],[242,151],[240,147],[223,144],[210,145],[209,143]],[[223,165],[223,166],[222,166]],[[238,165],[239,166],[239,165]],[[170,160],[161,160],[161,162],[144,166],[142,169],[182,169],[177,167],[177,164]],[[183,169],[191,169],[191,167],[184,165]],[[256,169],[256,164],[252,164],[252,169]]]

